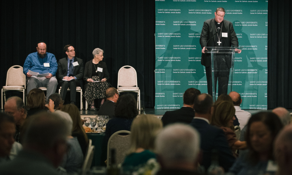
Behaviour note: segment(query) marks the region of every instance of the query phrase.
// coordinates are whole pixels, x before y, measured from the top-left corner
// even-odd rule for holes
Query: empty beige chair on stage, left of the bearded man
[[[18,67],[18,68],[15,68]],[[3,109],[3,92],[4,104],[6,103],[6,91],[19,91],[23,93],[23,103],[25,103],[26,76],[23,74],[23,67],[15,65],[8,69],[6,74],[6,85],[1,90],[1,109]],[[24,86],[24,87],[23,87]]]

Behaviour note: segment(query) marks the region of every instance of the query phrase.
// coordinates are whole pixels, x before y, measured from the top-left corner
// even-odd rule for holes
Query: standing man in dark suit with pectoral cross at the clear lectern
[[[215,18],[206,20],[201,31],[200,37],[200,44],[202,47],[201,64],[206,67],[208,94],[210,95],[212,95],[212,72],[210,67],[211,54],[205,53],[205,47],[231,47],[231,46],[238,47],[238,39],[233,29],[232,23],[230,21],[224,20],[224,16],[225,16],[224,8],[222,7],[217,8],[215,12]],[[217,32],[218,27],[220,27],[221,30],[218,32],[218,34],[215,34]],[[241,53],[241,50],[239,49],[235,49],[235,51]],[[218,54],[217,57],[219,57]],[[224,61],[222,60],[219,61],[218,62],[219,65],[217,65],[217,67],[219,70],[222,71],[220,71],[220,74],[219,71],[216,71],[217,74],[214,72],[215,92],[218,78],[218,96],[221,94],[227,94],[229,71],[231,68],[230,55],[222,54],[220,56],[220,59]]]

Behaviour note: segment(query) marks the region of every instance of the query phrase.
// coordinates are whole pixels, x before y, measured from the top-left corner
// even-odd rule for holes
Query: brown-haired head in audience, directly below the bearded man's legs
[[[34,88],[27,95],[28,109],[44,109],[45,108],[45,93],[39,88]]]

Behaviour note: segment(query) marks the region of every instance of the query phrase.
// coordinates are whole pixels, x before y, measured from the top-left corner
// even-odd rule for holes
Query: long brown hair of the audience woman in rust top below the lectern
[[[235,120],[235,108],[229,101],[221,101],[214,106],[214,112],[211,118],[211,125],[218,127],[229,127],[234,130],[233,120]]]

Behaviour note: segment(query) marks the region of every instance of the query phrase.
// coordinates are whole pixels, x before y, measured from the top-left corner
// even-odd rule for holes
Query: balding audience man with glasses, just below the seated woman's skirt
[[[119,93],[116,88],[110,87],[105,91],[105,101],[100,109],[98,110],[98,115],[108,115],[110,119],[114,118],[114,105],[119,99]]]

